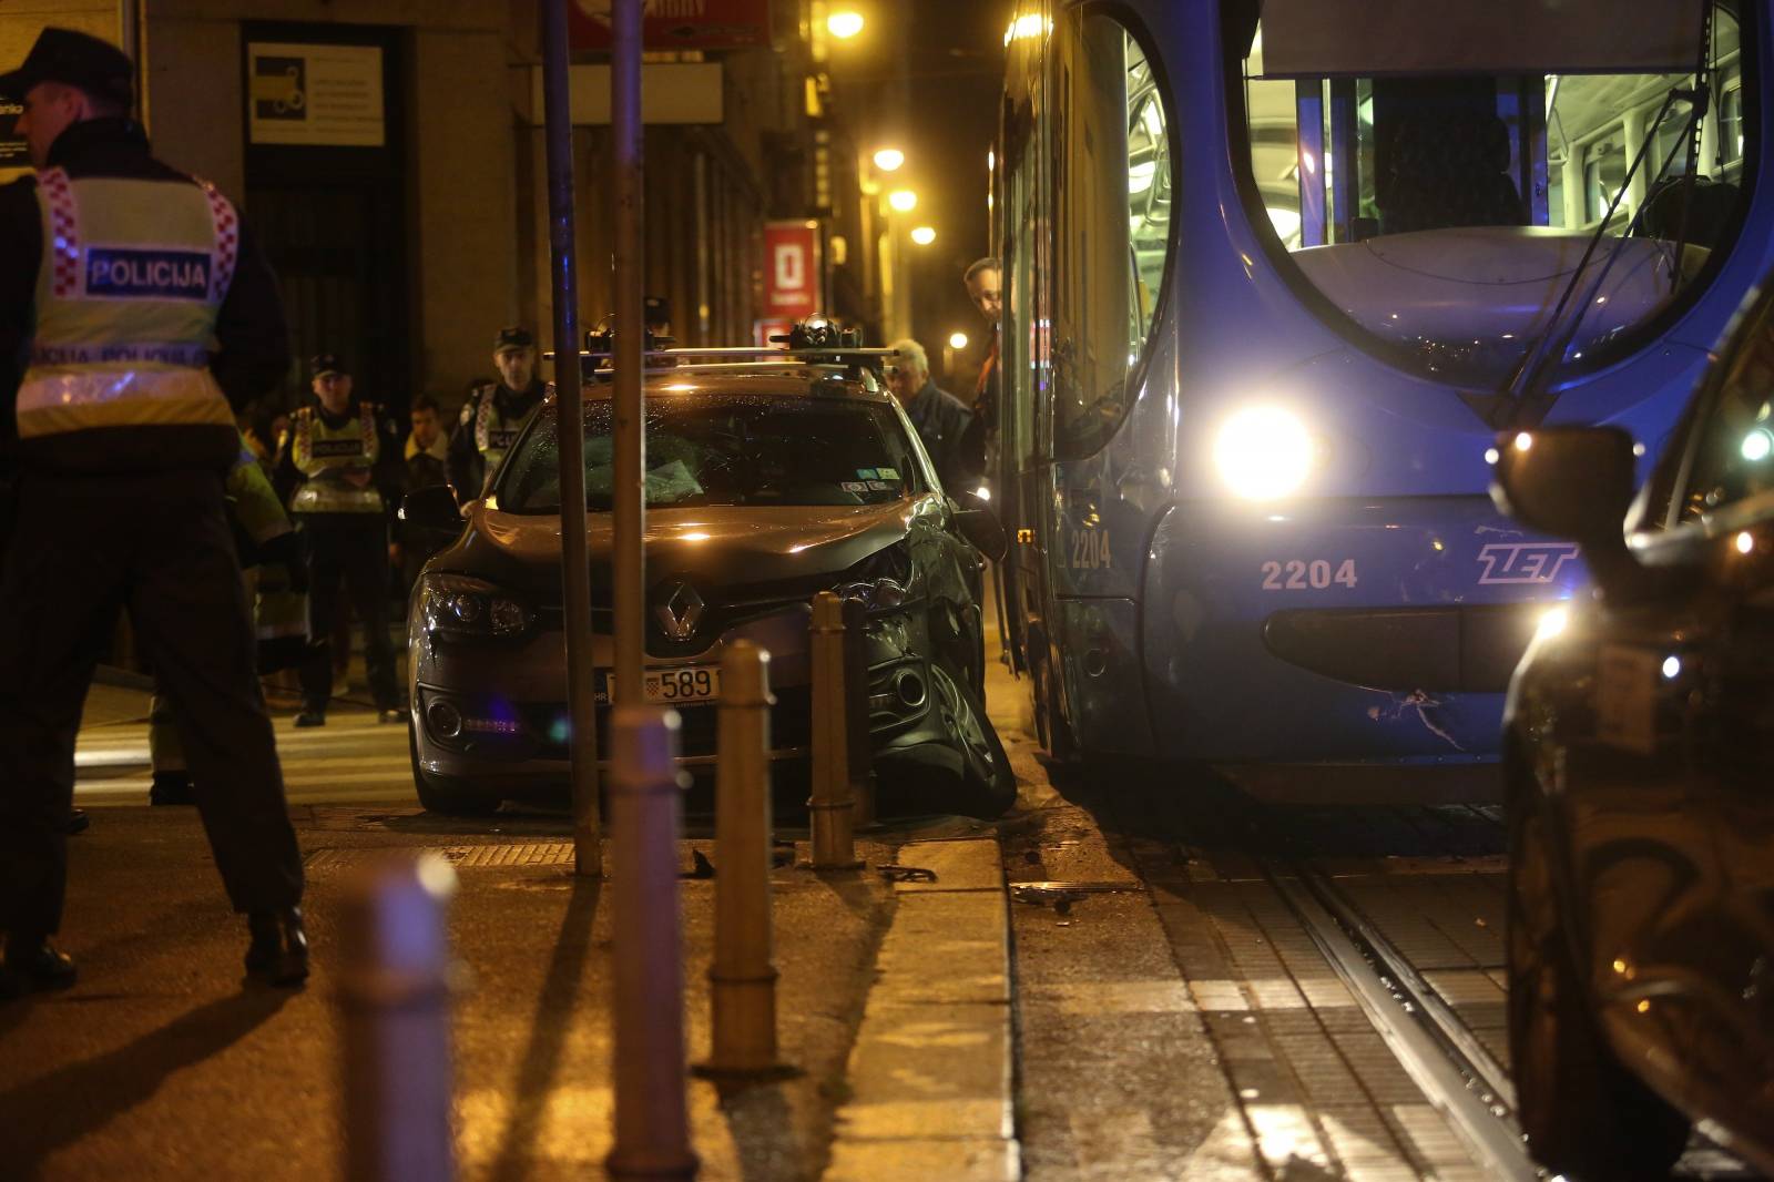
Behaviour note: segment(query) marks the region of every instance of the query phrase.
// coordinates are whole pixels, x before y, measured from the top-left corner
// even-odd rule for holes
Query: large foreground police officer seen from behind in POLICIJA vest
[[[307,976],[302,857],[252,660],[224,474],[232,406],[289,364],[270,266],[222,193],[149,154],[117,48],[46,28],[0,94],[35,177],[0,188],[0,421],[16,435],[0,575],[0,928],[5,987],[69,985],[80,708],[119,611],[177,706],[247,973]]]

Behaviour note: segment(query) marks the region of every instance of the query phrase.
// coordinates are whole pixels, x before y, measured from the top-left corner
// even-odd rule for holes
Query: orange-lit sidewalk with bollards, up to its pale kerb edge
[[[289,996],[239,989],[245,926],[193,811],[106,808],[73,839],[62,944],[82,976],[66,994],[0,1005],[0,1178],[337,1177],[334,923],[348,871],[389,848],[458,866],[459,1177],[600,1177],[610,898],[571,877],[564,825],[404,806],[294,816],[316,973]],[[974,829],[926,823],[938,838]],[[690,1081],[701,1177],[1017,1177],[999,847],[908,836],[859,843],[866,871],[775,871],[779,1038],[800,1074]],[[685,871],[692,850],[713,857],[703,836],[679,848]],[[889,886],[873,871],[883,863],[937,880]],[[710,1036],[713,887],[681,882],[692,1061]]]

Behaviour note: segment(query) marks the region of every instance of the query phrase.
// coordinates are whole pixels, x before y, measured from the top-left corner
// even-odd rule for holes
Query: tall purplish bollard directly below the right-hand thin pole
[[[678,712],[610,712],[612,1178],[694,1178],[678,916]]]

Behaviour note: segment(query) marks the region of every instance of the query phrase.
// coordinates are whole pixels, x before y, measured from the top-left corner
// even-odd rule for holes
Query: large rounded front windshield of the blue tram
[[[1737,231],[1754,103],[1714,0],[1226,0],[1226,30],[1267,229],[1446,380],[1632,348]]]

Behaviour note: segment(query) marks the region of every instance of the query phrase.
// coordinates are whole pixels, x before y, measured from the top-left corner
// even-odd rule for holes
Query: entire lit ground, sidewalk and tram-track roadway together
[[[1017,809],[869,834],[871,863],[928,864],[937,884],[777,868],[781,1036],[802,1074],[690,1084],[703,1177],[1531,1177],[1495,1152],[1506,1120],[1483,1127],[1508,1100],[1487,1091],[1508,1063],[1494,806],[1263,804],[1201,770],[1059,767],[1031,738],[1024,689],[993,667]],[[325,731],[280,719],[318,974],[296,996],[241,994],[243,935],[195,816],[140,806],[144,717],[138,687],[89,701],[78,799],[94,829],[75,841],[66,934],[83,976],[0,1008],[0,1177],[334,1177],[332,921],[380,848],[458,866],[463,1177],[598,1177],[610,905],[568,873],[564,818],[426,816],[401,728],[349,708]],[[687,871],[692,847],[710,852],[706,822],[687,829]],[[791,823],[779,836],[805,839]],[[1371,928],[1469,1036],[1451,1090],[1313,898]],[[685,879],[692,1060],[710,912],[711,884]],[[1703,1141],[1680,1175],[1753,1177]]]

